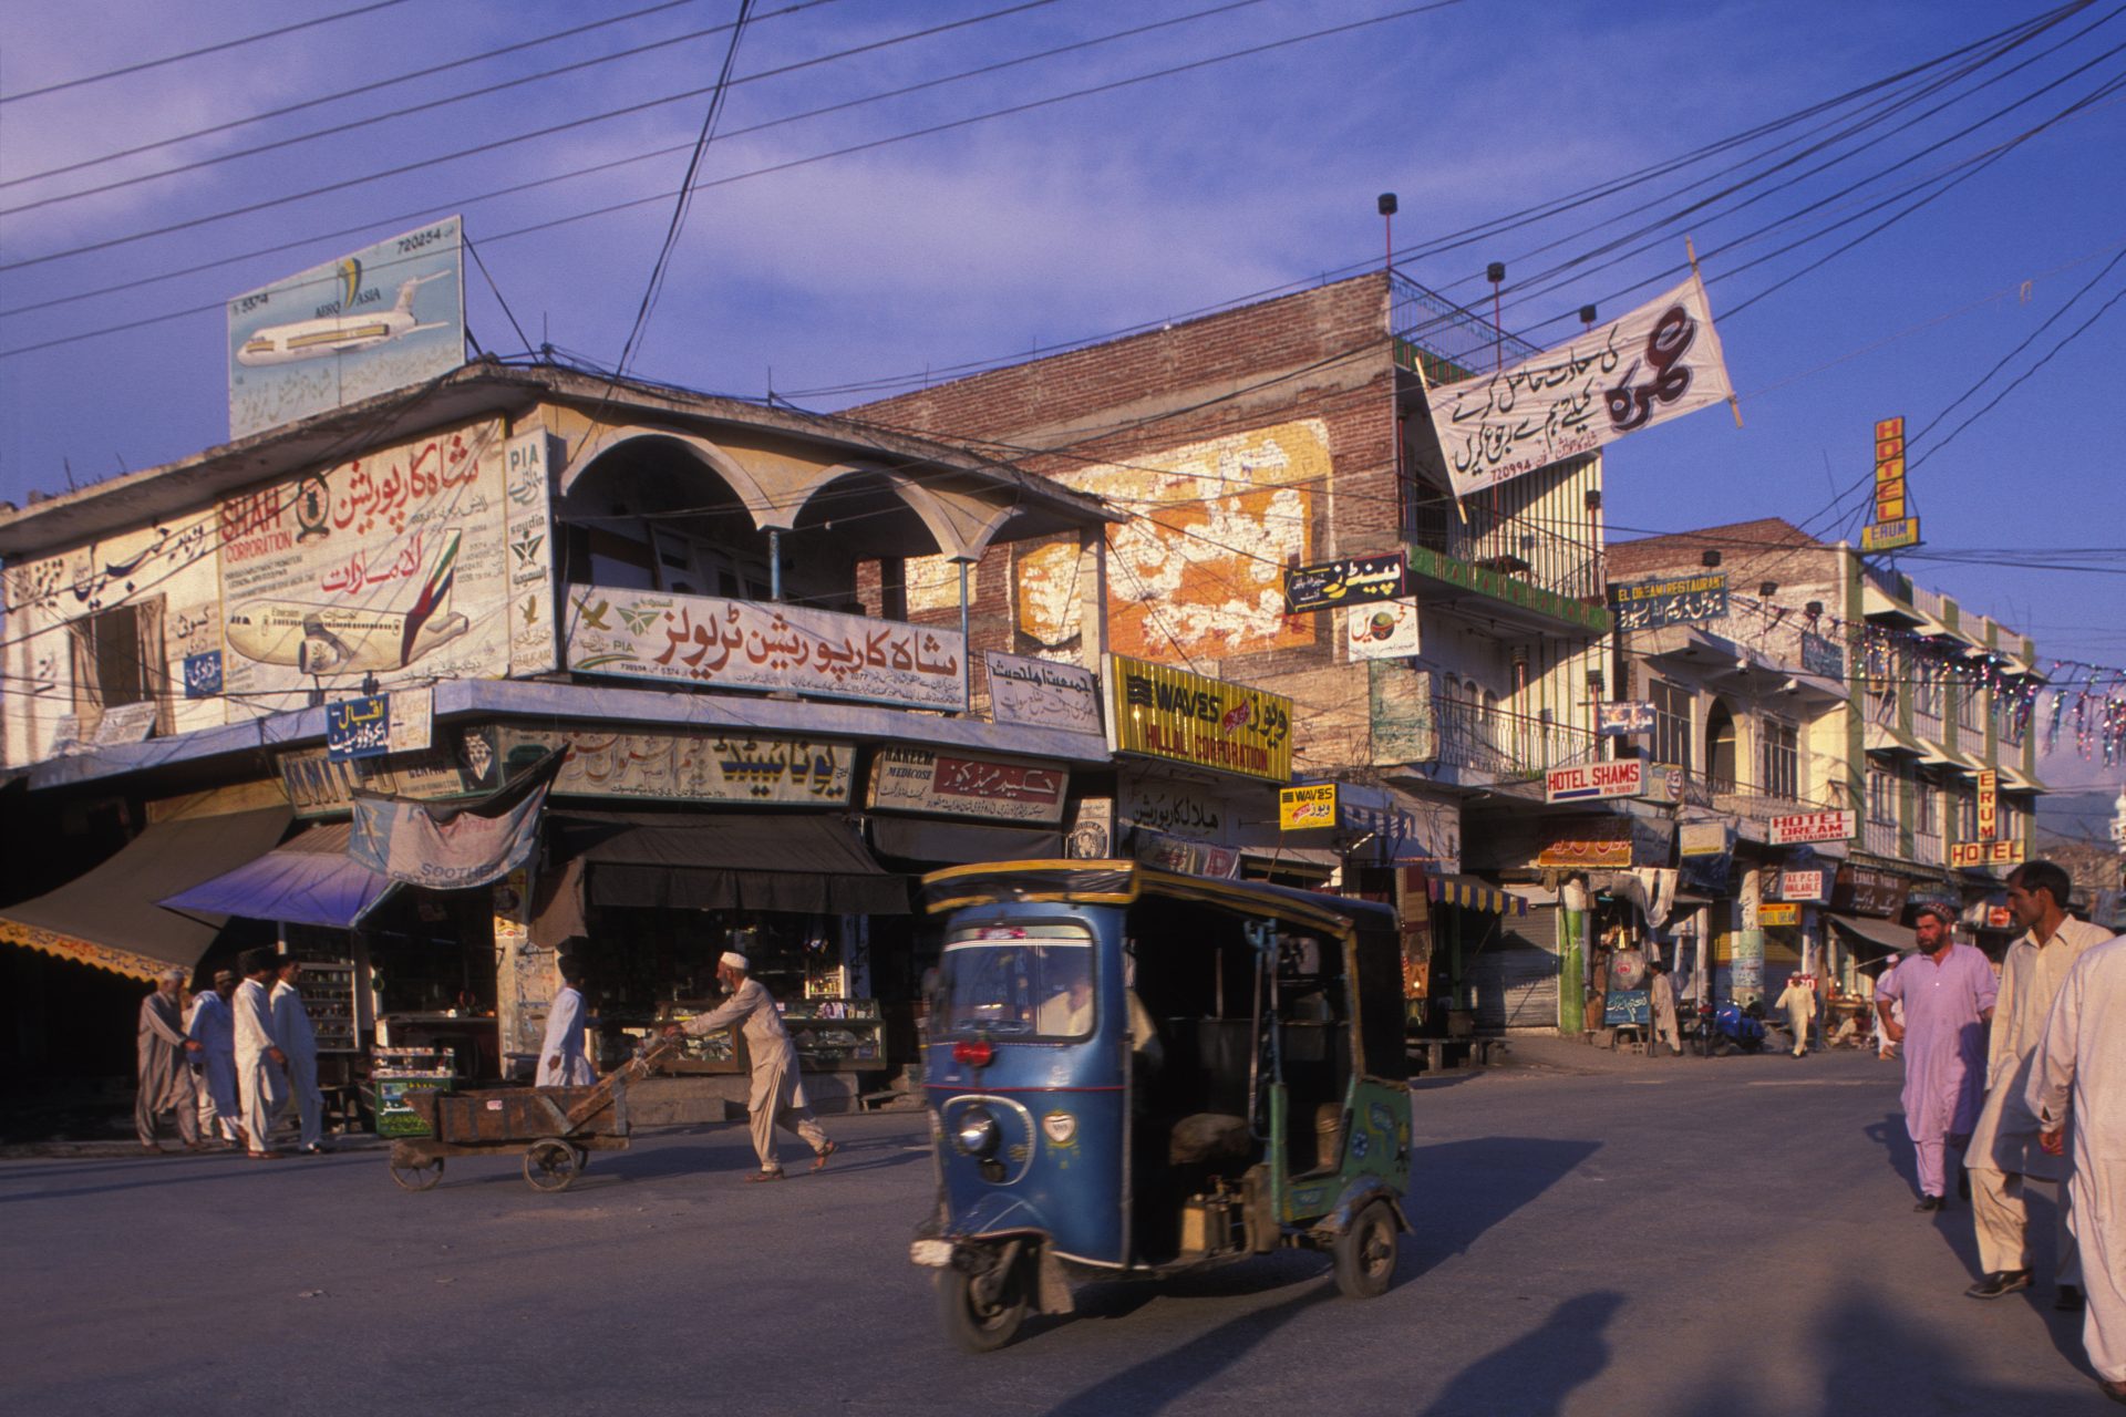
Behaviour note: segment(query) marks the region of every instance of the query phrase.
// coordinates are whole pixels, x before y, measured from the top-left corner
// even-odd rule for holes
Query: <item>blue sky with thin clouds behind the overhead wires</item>
[[[13,6],[0,21],[0,98],[359,2],[200,0],[185,6],[183,30],[168,25],[170,6],[147,0]],[[612,363],[670,202],[517,232],[678,185],[706,100],[578,119],[710,85],[729,36],[676,36],[727,23],[738,0],[674,4],[412,83],[385,81],[653,2],[402,0],[298,34],[0,102],[0,183],[11,183],[0,187],[0,208],[204,164],[0,215],[0,266],[30,261],[0,270],[0,310],[64,300],[0,314],[0,351],[204,308],[0,357],[0,497],[21,501],[30,489],[64,491],[68,465],[77,482],[87,482],[221,442],[227,385],[219,302],[429,215],[463,210],[468,234],[529,342],[549,340]],[[1380,191],[1401,198],[1395,236],[1399,246],[1414,249],[1403,266],[1410,276],[1456,300],[1488,304],[1484,263],[1505,261],[1505,323],[1543,340],[1567,327],[1580,304],[1594,302],[1609,317],[1660,289],[1639,283],[1658,280],[1682,259],[1688,229],[1711,283],[1745,427],[1735,429],[1724,412],[1705,412],[1616,444],[1607,461],[1607,510],[1616,533],[1629,535],[1767,514],[1818,516],[1835,489],[1867,474],[1875,419],[1905,414],[1913,429],[1926,425],[2058,317],[1935,429],[1939,442],[2126,289],[2126,261],[2105,270],[2126,251],[2126,183],[2117,178],[2126,168],[2126,102],[2100,87],[2126,74],[2126,51],[2109,53],[2126,45],[2126,15],[2109,4],[2083,8],[1984,70],[1977,79],[1998,74],[1992,87],[1973,93],[1971,81],[1945,91],[1941,98],[1962,98],[1941,115],[1901,134],[1871,130],[1867,138],[1882,136],[1879,147],[1850,153],[1865,138],[1845,140],[1822,155],[1847,153],[1835,168],[1767,193],[1741,212],[1722,215],[1720,206],[1760,187],[1690,221],[1667,221],[1652,249],[1607,268],[1597,268],[1607,257],[1584,259],[1554,289],[1526,287],[1552,285],[1533,278],[1560,259],[1588,257],[1643,221],[1626,208],[1760,153],[1762,144],[1454,251],[1424,246],[1782,119],[2035,19],[2047,6],[1463,0],[1091,98],[802,161],[1410,6],[1261,0],[887,102],[778,121],[1180,19],[1218,0],[1054,0],[929,38],[767,72],[1008,8],[1008,0],[829,0],[780,13],[791,4],[755,6],[759,19],[736,62],[744,83],[729,91],[723,136],[702,168],[710,185],[693,202],[665,291],[631,361],[642,376],[738,395],[761,395],[772,378],[778,393],[831,408],[848,402],[850,395],[833,393],[846,385],[1001,361],[1376,261]],[[485,98],[230,157],[636,45],[657,47]],[[2060,45],[2058,53],[2039,53],[2052,45]],[[2026,68],[2003,72],[2022,59]],[[2077,66],[2088,68],[2071,74]],[[357,93],[119,161],[19,181],[342,89]],[[1854,251],[1745,304],[1841,240],[1767,255],[1792,236],[1852,217],[1882,200],[1886,183],[1950,174],[1954,164],[2088,96],[2094,102],[2079,115],[2020,142]],[[1952,138],[2022,98],[2028,102],[2013,113]],[[1913,113],[1907,108],[1892,121]],[[546,125],[568,127],[442,159]],[[1933,142],[1943,147],[1920,151]],[[640,161],[474,200],[631,157]],[[748,176],[793,161],[802,166]],[[1767,164],[1756,157],[1748,172]],[[400,166],[412,170],[361,181]],[[1892,168],[1899,176],[1835,195]],[[302,191],[317,195],[217,219]],[[1824,206],[1803,217],[1811,202]],[[1677,204],[1680,198],[1669,198],[1656,210]],[[1752,227],[1782,217],[1792,221],[1743,240]],[[176,223],[198,225],[121,240]],[[38,259],[102,242],[117,244]],[[1758,257],[1767,259],[1745,268]],[[213,266],[162,278],[206,263]],[[2079,304],[2060,314],[2092,278]],[[140,280],[134,289],[68,300]],[[523,346],[478,272],[468,272],[468,319],[485,346],[504,353]],[[1952,442],[1939,450],[1928,440],[1913,446],[1926,459],[1913,472],[1913,497],[1928,550],[1960,559],[1909,561],[1907,569],[1979,612],[2030,629],[2047,659],[2126,665],[2120,574],[2126,559],[2111,557],[2094,571],[2058,571],[1973,565],[1969,557],[2009,552],[2028,561],[2049,548],[2126,542],[2117,461],[2126,442],[2122,372],[2126,308],[2111,308]],[[2060,782],[2120,775],[2122,769],[2081,765],[2071,754],[2047,763],[2047,778]]]

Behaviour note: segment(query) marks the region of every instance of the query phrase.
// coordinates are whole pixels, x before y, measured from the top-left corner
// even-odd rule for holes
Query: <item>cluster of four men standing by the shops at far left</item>
[[[242,979],[238,981],[238,975]],[[162,1113],[174,1113],[179,1141],[206,1151],[242,1145],[272,1160],[274,1120],[296,1105],[296,1149],[323,1151],[325,1096],[317,1086],[317,1030],[302,1003],[302,962],[272,950],[247,950],[234,971],[185,1003],[187,971],[166,969],[140,1001],[140,1092],[134,1130],[145,1151]]]

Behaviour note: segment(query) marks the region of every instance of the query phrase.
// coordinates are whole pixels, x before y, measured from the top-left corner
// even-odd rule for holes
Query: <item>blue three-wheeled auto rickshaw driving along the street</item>
[[[923,1086],[938,1209],[910,1258],[972,1351],[1074,1279],[1322,1249],[1395,1277],[1410,1181],[1403,973],[1384,905],[1129,860],[923,877],[946,916]]]

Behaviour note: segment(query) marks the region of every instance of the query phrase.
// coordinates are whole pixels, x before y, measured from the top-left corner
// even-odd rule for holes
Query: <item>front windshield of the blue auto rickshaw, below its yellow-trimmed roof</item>
[[[1082,1039],[1093,1032],[1093,935],[1076,924],[952,931],[938,969],[938,1032]]]

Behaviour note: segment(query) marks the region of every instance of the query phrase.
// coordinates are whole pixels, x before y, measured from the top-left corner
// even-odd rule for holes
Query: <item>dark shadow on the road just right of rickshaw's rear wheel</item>
[[[1403,1239],[1403,1279],[1465,1253],[1486,1230],[1597,1151],[1599,1141],[1550,1137],[1482,1137],[1416,1147],[1403,1213],[1422,1215],[1424,1224]]]

